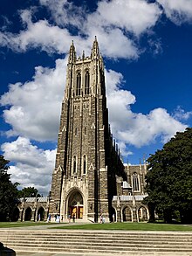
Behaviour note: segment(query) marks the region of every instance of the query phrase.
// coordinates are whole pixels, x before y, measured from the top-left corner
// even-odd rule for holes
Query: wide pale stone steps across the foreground
[[[192,232],[114,232],[1,229],[0,241],[17,252],[192,255]],[[86,254],[85,254],[86,253]],[[169,255],[168,254],[168,255]]]

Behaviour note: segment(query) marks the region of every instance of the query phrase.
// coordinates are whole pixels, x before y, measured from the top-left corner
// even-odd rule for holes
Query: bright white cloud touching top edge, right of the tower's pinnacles
[[[98,9],[88,22],[96,21],[100,26],[116,26],[122,30],[132,31],[136,35],[154,26],[161,15],[156,3],[144,0],[100,1]]]

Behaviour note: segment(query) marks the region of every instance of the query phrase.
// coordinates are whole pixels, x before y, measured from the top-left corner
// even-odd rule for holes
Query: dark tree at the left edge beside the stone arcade
[[[0,156],[0,221],[11,219],[12,212],[17,206],[17,185],[11,183],[9,169],[9,161]]]

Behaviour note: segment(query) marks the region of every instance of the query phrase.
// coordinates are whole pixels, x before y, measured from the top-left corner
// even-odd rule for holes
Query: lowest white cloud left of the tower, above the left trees
[[[20,183],[21,187],[35,187],[40,193],[48,195],[56,150],[38,149],[24,137],[3,143],[1,149],[6,159],[16,163],[9,169],[13,183]]]

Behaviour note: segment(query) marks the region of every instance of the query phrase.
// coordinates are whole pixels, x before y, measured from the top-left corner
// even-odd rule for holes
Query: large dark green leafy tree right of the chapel
[[[147,159],[146,176],[150,220],[154,211],[170,223],[180,215],[182,223],[192,223],[192,128],[176,133],[161,150]]]

